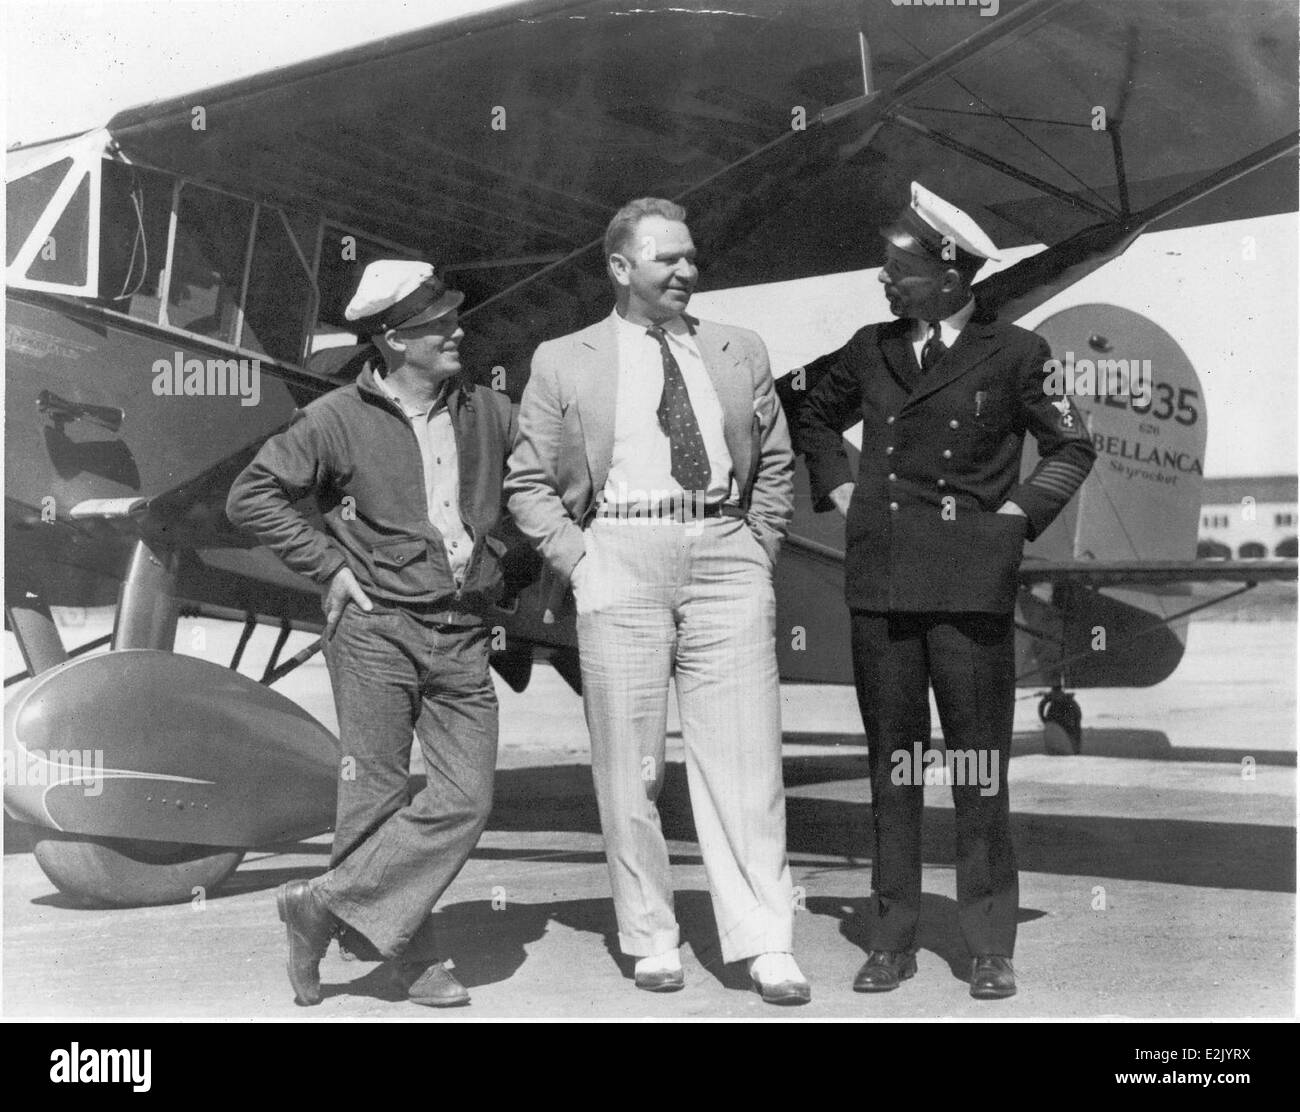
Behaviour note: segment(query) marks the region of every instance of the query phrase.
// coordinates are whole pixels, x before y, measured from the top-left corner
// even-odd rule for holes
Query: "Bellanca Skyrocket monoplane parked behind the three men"
[[[1157,222],[1300,207],[1286,0],[991,7],[528,0],[9,151],[5,623],[25,667],[5,809],[55,886],[183,901],[252,847],[330,830],[337,743],[273,689],[318,649],[281,659],[320,631],[318,589],[224,506],[294,410],[355,373],[342,310],[372,259],[438,261],[468,295],[465,365],[517,401],[540,341],[607,312],[597,248],[629,187],[688,204],[707,291],[880,265],[875,229],[923,181],[1000,245],[1049,245],[979,284],[1008,320]],[[1179,589],[1296,562],[1192,559],[1205,414],[1167,334],[1095,306],[1041,330],[1156,368],[1145,408],[1078,399],[1100,462],[1022,571],[1019,679],[1078,750],[1067,688],[1169,675]],[[793,410],[797,368],[777,371]],[[781,678],[848,683],[842,527],[811,514],[802,466],[797,497]],[[515,691],[537,659],[580,684],[545,579],[508,551],[490,620]],[[105,605],[112,633],[66,646],[51,607]],[[179,615],[242,622],[229,663],[173,652]],[[259,623],[277,635],[254,679]]]

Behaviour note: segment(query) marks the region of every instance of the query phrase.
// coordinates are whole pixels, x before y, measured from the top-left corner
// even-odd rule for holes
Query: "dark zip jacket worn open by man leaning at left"
[[[442,536],[429,522],[415,430],[367,367],[350,386],[299,410],[235,479],[234,524],[286,564],[325,583],[347,563],[367,594],[398,603],[474,611],[500,590],[506,544],[489,536],[502,514],[506,457],[515,437],[510,398],[472,384],[447,397],[460,470],[460,519],[474,548],[458,587]],[[292,503],[315,493],[325,532]]]

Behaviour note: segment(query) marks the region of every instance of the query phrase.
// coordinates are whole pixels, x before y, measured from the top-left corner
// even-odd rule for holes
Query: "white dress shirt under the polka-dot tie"
[[[653,509],[680,497],[681,484],[672,477],[672,449],[659,427],[663,395],[663,350],[645,326],[630,324],[614,311],[619,337],[619,389],[614,419],[614,458],[604,481],[604,501],[615,506]],[[724,502],[733,494],[732,458],[723,434],[723,407],[708,378],[696,339],[681,317],[663,325],[686,384],[690,407],[708,455],[706,502]]]

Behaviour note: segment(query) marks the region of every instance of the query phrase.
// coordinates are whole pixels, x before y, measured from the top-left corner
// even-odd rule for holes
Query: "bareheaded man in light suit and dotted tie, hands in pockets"
[[[685,209],[644,198],[610,222],[614,312],[533,356],[506,493],[555,610],[572,587],[606,857],[636,985],[684,985],[663,784],[675,680],[686,780],[724,961],[802,1004],[792,956],[772,568],[793,457],[767,350],[685,313]]]

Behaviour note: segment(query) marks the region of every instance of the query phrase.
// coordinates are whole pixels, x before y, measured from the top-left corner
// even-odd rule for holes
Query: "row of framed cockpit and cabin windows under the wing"
[[[105,157],[108,142],[107,133],[87,133],[9,152],[10,287],[88,299],[298,365],[326,333],[351,339],[343,306],[361,268],[391,247],[341,230],[325,247],[318,213]],[[317,324],[317,267],[329,295],[325,324]]]

